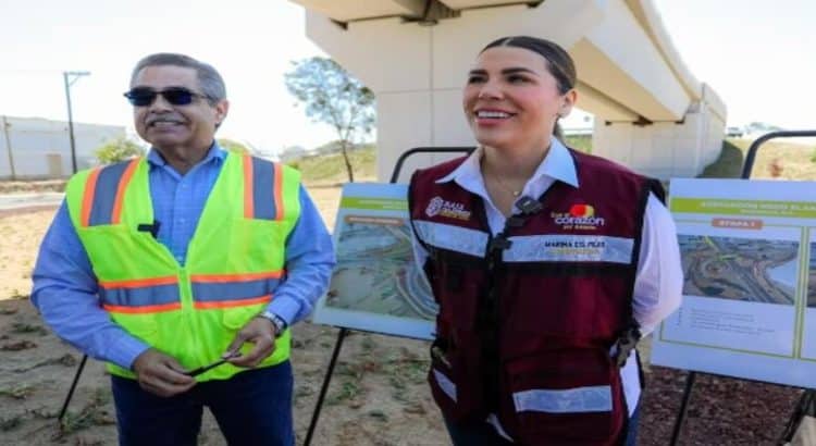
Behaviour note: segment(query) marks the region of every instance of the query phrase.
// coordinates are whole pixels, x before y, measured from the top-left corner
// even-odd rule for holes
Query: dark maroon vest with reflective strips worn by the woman
[[[480,197],[417,171],[409,208],[440,303],[429,382],[453,421],[496,413],[523,445],[614,445],[627,408],[610,348],[633,323],[648,193],[658,182],[570,150],[579,188],[524,198],[491,236]]]

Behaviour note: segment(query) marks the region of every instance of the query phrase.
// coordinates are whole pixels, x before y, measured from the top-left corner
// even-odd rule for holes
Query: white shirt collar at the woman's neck
[[[475,178],[482,177],[482,170],[479,165],[484,149],[478,147],[468,159],[465,160],[458,168],[456,168],[449,174],[437,179],[436,183],[447,183],[455,181],[458,184],[472,184]],[[544,160],[539,164],[530,177],[529,182],[539,182],[543,176],[548,176],[553,179],[567,183],[572,187],[578,187],[578,174],[576,172],[576,162],[569,150],[561,144],[558,138],[552,136],[549,138],[549,151]]]

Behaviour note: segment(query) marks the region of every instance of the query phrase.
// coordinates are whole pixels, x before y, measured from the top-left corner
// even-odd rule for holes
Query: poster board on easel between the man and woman
[[[343,186],[334,227],[337,264],[312,321],[419,339],[433,338],[437,306],[418,268],[408,186]]]

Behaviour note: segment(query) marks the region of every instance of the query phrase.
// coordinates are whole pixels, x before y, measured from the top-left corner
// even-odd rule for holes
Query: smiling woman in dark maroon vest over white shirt
[[[554,135],[574,85],[556,44],[491,42],[462,91],[480,147],[411,178],[440,303],[429,383],[455,445],[635,442],[632,348],[679,305],[679,249],[659,182]]]

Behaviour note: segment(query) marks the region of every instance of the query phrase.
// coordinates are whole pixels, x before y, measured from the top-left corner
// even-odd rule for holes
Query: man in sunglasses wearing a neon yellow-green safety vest
[[[210,65],[159,53],[125,94],[147,157],[74,175],[32,300],[108,362],[122,445],[195,445],[205,406],[230,444],[293,445],[289,330],[334,265],[288,166],[224,151]]]

